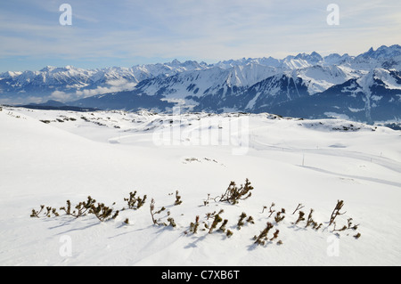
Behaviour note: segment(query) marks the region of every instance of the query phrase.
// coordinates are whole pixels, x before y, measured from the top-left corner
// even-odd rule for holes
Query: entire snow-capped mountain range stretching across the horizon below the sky
[[[271,112],[300,118],[401,119],[401,46],[357,56],[299,53],[255,58],[136,65],[46,67],[0,74],[0,103],[59,101],[101,110]],[[56,103],[57,104],[57,103]]]

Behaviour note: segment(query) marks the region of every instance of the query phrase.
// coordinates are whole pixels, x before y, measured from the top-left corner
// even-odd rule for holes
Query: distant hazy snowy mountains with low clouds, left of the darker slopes
[[[78,69],[72,66],[47,66],[38,71],[5,72],[0,74],[0,103],[78,100],[95,94],[132,90],[144,79],[206,68],[206,63],[172,61],[132,68]]]

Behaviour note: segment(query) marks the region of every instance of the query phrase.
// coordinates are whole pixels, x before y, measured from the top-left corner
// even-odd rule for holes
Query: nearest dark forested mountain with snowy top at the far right
[[[302,118],[349,118],[373,123],[401,118],[401,72],[372,69],[361,77],[333,85],[322,93],[271,108]]]

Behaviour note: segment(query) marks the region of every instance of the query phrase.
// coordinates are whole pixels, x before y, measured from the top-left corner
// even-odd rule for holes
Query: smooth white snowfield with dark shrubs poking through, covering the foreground
[[[0,265],[399,265],[400,135],[347,120],[266,113],[3,107]],[[231,181],[240,185],[246,178],[254,187],[249,199],[236,205],[213,199]],[[146,202],[121,210],[130,191],[146,194]],[[176,191],[183,200],[177,206]],[[75,207],[89,195],[121,210],[119,216],[101,223],[94,215],[59,211],[67,199]],[[157,215],[160,222],[172,217],[176,227],[152,223],[151,199],[156,210],[166,207]],[[344,200],[345,214],[337,217],[336,229],[352,218],[356,231],[336,233],[329,226],[338,200]],[[280,223],[276,212],[269,217],[272,202],[276,211],[285,208]],[[299,203],[306,219],[314,209],[321,229],[294,224]],[[30,217],[40,205],[57,208],[60,216]],[[206,214],[221,209],[230,238],[217,230],[221,223],[210,234],[202,230],[212,222]],[[238,230],[242,212],[254,223]],[[196,215],[201,225],[193,234]],[[278,238],[255,245],[252,238],[267,222],[274,224],[269,239],[275,230]]]

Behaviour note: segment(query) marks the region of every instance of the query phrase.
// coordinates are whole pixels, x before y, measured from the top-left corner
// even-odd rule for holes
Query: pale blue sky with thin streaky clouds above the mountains
[[[340,24],[328,25],[329,4]],[[61,4],[72,25],[62,26]],[[401,45],[399,0],[12,0],[0,3],[0,72],[313,51],[356,55]]]

